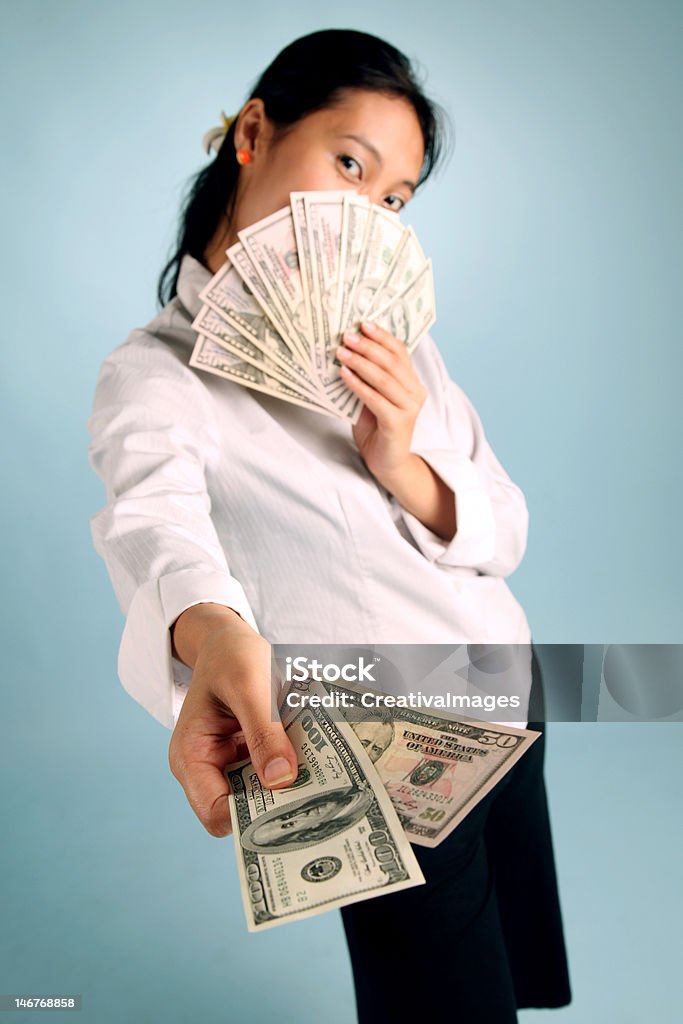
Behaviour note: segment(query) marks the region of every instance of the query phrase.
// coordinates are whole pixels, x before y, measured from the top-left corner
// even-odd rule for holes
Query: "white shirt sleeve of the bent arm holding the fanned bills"
[[[404,509],[403,519],[419,549],[437,565],[509,575],[526,549],[528,509],[524,495],[494,454],[476,410],[449,376],[432,339],[426,338],[422,345],[438,429],[432,433],[417,429],[412,451],[454,492],[456,532],[446,542]]]

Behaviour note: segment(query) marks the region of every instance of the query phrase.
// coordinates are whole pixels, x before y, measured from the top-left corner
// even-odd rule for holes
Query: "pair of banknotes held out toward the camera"
[[[250,932],[423,884],[411,844],[442,843],[540,736],[396,710],[379,693],[375,710],[358,714],[364,691],[351,683],[296,687],[284,718],[294,782],[266,790],[251,761],[225,769]]]

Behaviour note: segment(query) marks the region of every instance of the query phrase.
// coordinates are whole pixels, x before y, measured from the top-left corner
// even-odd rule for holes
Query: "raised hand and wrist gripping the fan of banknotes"
[[[408,349],[389,331],[364,322],[337,349],[346,386],[364,402],[353,439],[368,469],[388,490],[411,461],[411,441],[427,390]]]

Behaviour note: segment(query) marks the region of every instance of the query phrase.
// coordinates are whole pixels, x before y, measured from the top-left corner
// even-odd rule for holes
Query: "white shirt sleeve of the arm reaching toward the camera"
[[[106,489],[92,539],[126,616],[119,677],[173,728],[190,678],[171,651],[169,628],[180,612],[215,602],[257,629],[211,518],[206,468],[218,439],[210,402],[163,343],[138,338],[102,365],[88,430],[89,462]]]

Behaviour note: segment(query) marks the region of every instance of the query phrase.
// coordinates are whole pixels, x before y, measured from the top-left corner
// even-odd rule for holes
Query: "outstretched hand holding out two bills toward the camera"
[[[193,679],[169,745],[171,771],[212,836],[232,830],[226,765],[251,758],[261,782],[293,782],[297,758],[273,721],[270,644],[220,604],[187,608],[173,627],[175,656]]]

